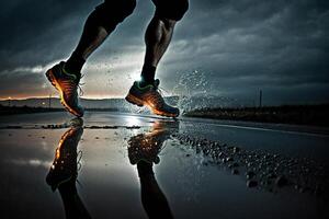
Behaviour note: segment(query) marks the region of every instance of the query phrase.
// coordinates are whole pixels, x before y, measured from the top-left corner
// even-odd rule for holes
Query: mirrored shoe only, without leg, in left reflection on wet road
[[[61,184],[77,178],[77,147],[82,132],[83,128],[78,126],[71,127],[63,135],[56,149],[55,160],[46,177],[46,182],[53,191]]]

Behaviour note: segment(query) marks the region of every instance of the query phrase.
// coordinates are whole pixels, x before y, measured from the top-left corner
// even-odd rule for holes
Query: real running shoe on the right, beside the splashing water
[[[140,82],[135,81],[129,90],[126,101],[138,106],[148,106],[155,114],[168,117],[178,117],[180,111],[168,105],[158,91],[160,81],[155,80],[154,84],[140,88]]]

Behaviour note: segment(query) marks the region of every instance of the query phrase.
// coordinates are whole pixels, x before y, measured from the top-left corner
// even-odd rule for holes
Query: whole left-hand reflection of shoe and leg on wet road
[[[80,119],[80,123],[76,123],[61,136],[55,152],[54,163],[46,177],[52,189],[55,192],[58,188],[59,191],[66,218],[91,218],[76,187],[78,177],[77,147],[82,134],[82,119]]]

